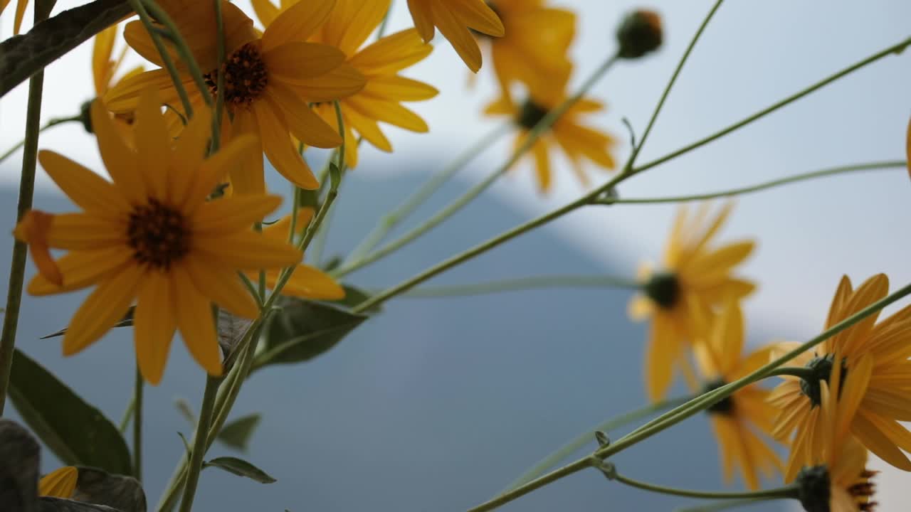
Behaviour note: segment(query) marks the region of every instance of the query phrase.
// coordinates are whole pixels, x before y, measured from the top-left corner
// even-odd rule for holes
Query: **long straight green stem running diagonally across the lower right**
[[[824,340],[827,340],[828,338],[834,336],[837,333],[841,333],[842,331],[851,327],[855,323],[858,323],[861,320],[865,319],[867,316],[885,308],[889,304],[896,302],[899,299],[902,299],[903,297],[906,297],[909,294],[911,294],[911,284],[907,284],[905,287],[901,288],[900,290],[898,290],[896,292],[891,293],[884,299],[876,301],[873,304],[870,304],[869,306],[867,306],[866,308],[864,308],[863,310],[861,310],[859,312],[855,312],[855,314],[849,316],[848,318],[844,319],[843,321],[836,323],[829,329],[825,330],[824,333],[821,333],[821,334],[815,336],[810,341],[801,344],[797,348],[793,349],[791,352],[785,353],[783,356],[779,357],[778,359],[775,359],[773,362],[771,362],[769,364],[764,365],[763,367],[759,368],[752,374],[746,375],[739,380],[733,381],[732,383],[725,384],[722,387],[719,387],[706,394],[701,394],[700,396],[690,400],[686,404],[682,404],[678,407],[675,407],[671,411],[669,411],[663,415],[660,415],[659,417],[655,418],[654,420],[650,421],[649,423],[640,426],[640,428],[637,428],[636,430],[632,431],[630,434],[620,437],[617,442],[611,443],[610,445],[599,448],[598,450],[595,451],[595,453],[593,455],[582,457],[572,463],[569,463],[567,466],[560,467],[560,468],[552,471],[551,473],[548,473],[545,476],[540,476],[530,482],[527,482],[527,484],[518,486],[517,488],[512,489],[509,492],[507,492],[499,497],[496,497],[495,499],[487,502],[486,504],[484,504],[480,507],[472,508],[470,512],[480,512],[482,510],[492,510],[493,508],[504,505],[504,504],[516,499],[517,497],[525,496],[528,493],[530,493],[540,487],[547,486],[548,484],[557,481],[559,478],[562,478],[563,476],[572,475],[573,473],[576,473],[579,470],[585,469],[586,467],[589,467],[589,466],[598,466],[600,464],[600,461],[606,460],[610,456],[615,456],[619,452],[629,448],[630,446],[636,445],[640,441],[642,441],[644,439],[648,439],[650,436],[656,435],[659,432],[661,432],[667,428],[670,428],[670,426],[677,425],[678,423],[680,423],[684,419],[690,417],[691,415],[695,415],[695,414],[711,407],[712,404],[717,404],[718,402],[722,401],[724,398],[734,394],[737,390],[740,390],[743,387],[746,387],[750,384],[763,380],[764,378],[766,378],[770,374],[772,374],[776,368],[778,368],[779,366],[782,366],[783,364],[787,363],[788,361],[791,361],[794,357],[797,357],[798,355],[806,352],[807,350],[812,349],[814,346],[816,346],[819,343],[823,343]]]

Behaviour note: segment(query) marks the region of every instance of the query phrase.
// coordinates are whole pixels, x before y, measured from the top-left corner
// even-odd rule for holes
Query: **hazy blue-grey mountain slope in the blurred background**
[[[351,250],[418,183],[417,173],[394,179],[374,179],[363,170],[350,174],[334,212],[327,254]],[[450,183],[433,204],[438,208],[466,186]],[[41,194],[35,202],[43,210],[71,210],[59,195]],[[433,210],[419,211],[414,222]],[[3,232],[12,229],[14,217],[15,190],[0,189]],[[349,282],[366,289],[393,285],[522,220],[486,194],[424,239],[354,273]],[[617,273],[575,251],[557,229],[528,233],[432,284]],[[11,242],[0,237],[0,268],[8,268]],[[4,291],[6,281],[0,277]],[[26,297],[18,346],[117,421],[131,394],[131,332],[118,329],[66,361],[59,339],[38,340],[65,326],[84,296]],[[198,508],[458,511],[494,497],[569,438],[644,404],[645,329],[626,318],[628,299],[629,292],[605,289],[389,302],[332,352],[309,364],[254,375],[234,416],[263,414],[244,457],[279,481],[262,486],[206,471]],[[193,431],[173,400],[184,397],[198,408],[204,382],[182,344],[174,347],[163,383],[146,393],[150,504],[157,503],[184,449],[177,432],[189,437]],[[210,456],[220,455],[230,451],[214,446]],[[614,462],[625,475],[661,485],[722,488],[717,448],[704,416]],[[43,469],[56,465],[46,452]],[[697,503],[611,484],[590,470],[502,509],[661,511]],[[778,508],[770,504],[763,510]]]

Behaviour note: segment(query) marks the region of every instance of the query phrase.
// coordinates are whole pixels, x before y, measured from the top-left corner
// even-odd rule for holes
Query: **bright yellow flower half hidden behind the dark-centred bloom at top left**
[[[392,0],[337,0],[329,19],[326,20],[312,40],[334,46],[346,56],[346,64],[361,72],[366,79],[363,90],[339,101],[345,128],[345,163],[357,166],[358,151],[356,131],[374,147],[390,152],[393,150],[378,122],[392,124],[399,128],[425,133],[429,130],[424,119],[401,105],[403,101],[420,101],[435,97],[437,90],[424,82],[401,77],[398,72],[414,66],[433,51],[425,44],[415,29],[404,30],[392,36],[385,36],[372,45],[362,48],[367,37],[383,21]],[[281,9],[287,9],[298,2],[285,0]],[[268,0],[254,2],[257,15],[263,26],[270,26],[271,20],[282,12]],[[316,112],[336,131],[338,119],[332,103],[320,103]]]

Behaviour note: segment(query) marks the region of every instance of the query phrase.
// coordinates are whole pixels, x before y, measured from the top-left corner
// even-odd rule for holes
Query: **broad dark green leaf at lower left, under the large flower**
[[[18,350],[9,397],[26,424],[65,465],[132,475],[127,443],[117,426]]]

